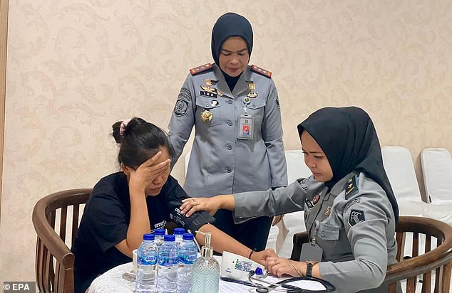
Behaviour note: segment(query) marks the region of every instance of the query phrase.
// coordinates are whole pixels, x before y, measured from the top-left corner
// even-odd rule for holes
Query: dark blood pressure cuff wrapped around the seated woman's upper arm
[[[195,231],[199,230],[207,223],[213,223],[215,218],[209,215],[206,211],[195,212],[190,217],[186,217],[180,213],[180,205],[182,203],[178,200],[172,200],[168,203],[170,208],[170,219],[179,226],[183,226],[185,230],[190,229],[191,233],[195,235]]]

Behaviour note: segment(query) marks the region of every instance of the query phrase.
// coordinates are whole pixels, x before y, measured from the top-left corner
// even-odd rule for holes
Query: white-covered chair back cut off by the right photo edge
[[[421,152],[423,183],[431,203],[452,203],[452,158],[447,149]]]

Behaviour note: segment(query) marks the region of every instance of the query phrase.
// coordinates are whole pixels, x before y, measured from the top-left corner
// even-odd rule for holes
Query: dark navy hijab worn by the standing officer
[[[220,51],[225,41],[233,36],[238,36],[245,41],[247,44],[248,54],[251,56],[252,51],[252,27],[250,21],[247,18],[235,14],[233,12],[228,12],[223,14],[217,19],[217,22],[212,29],[212,57],[220,67]],[[248,59],[249,61],[250,59]],[[220,68],[221,69],[221,68]],[[229,86],[231,92],[234,89],[240,75],[232,77],[227,75],[223,70],[221,70],[225,76],[227,85]]]

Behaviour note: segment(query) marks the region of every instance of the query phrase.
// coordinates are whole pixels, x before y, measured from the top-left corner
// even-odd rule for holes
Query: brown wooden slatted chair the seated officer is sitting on
[[[405,238],[412,233],[412,255],[405,257]],[[425,247],[419,247],[419,235],[425,235]],[[432,238],[436,238],[436,247],[431,249]],[[397,260],[399,262],[389,265],[386,270],[384,282],[389,283],[389,292],[396,292],[396,282],[406,279],[406,292],[415,292],[417,276],[423,275],[422,292],[431,292],[432,281],[434,292],[449,293],[451,287],[452,270],[452,226],[439,220],[422,217],[399,217],[396,226]],[[307,232],[294,235],[294,249],[292,260],[299,260],[303,243],[308,242]],[[418,252],[425,253],[419,255]],[[435,271],[432,279],[431,272]]]

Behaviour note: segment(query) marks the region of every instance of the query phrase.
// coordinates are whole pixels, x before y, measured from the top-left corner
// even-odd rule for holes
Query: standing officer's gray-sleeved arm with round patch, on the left
[[[192,132],[195,124],[195,87],[192,83],[192,75],[185,79],[183,87],[180,89],[178,100],[175,103],[170,124],[168,124],[170,142],[173,144],[175,156],[171,158],[171,166],[176,164],[185,144]]]

